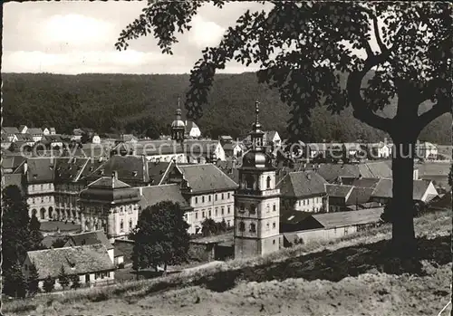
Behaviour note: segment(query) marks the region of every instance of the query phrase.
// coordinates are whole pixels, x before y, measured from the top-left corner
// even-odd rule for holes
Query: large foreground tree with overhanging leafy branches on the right
[[[189,30],[204,3],[149,2],[120,33],[116,48],[126,49],[128,41],[152,34],[162,53],[172,53],[172,44],[178,42],[175,33]],[[213,4],[222,8],[225,1]],[[352,106],[355,118],[390,134],[398,148],[392,159],[393,202],[399,214],[392,222],[392,245],[394,254],[414,256],[411,154],[421,130],[450,111],[452,6],[448,2],[272,5],[268,11],[248,10],[227,29],[217,47],[202,52],[190,74],[188,117],[202,116],[216,70],[231,60],[261,66],[258,80],[278,89],[282,101],[293,108],[288,121],[292,138],[310,121],[314,108],[324,106],[339,113]],[[419,114],[419,105],[426,101],[432,102],[432,108]],[[390,104],[397,108],[391,119],[380,115]]]

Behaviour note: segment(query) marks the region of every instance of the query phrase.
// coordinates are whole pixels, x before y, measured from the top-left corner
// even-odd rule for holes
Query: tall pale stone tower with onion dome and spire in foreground
[[[266,154],[265,133],[258,121],[250,133],[252,148],[243,158],[235,195],[235,258],[253,257],[280,248],[280,190],[275,188],[275,168]]]

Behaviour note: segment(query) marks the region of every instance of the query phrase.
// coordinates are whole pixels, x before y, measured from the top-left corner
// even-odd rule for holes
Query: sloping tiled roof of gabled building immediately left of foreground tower
[[[235,190],[235,181],[213,164],[186,165],[177,167],[188,181],[192,193]]]

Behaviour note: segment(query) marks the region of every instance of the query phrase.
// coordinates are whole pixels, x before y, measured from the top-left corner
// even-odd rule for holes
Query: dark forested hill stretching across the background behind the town
[[[51,126],[60,133],[70,133],[76,127],[148,135],[168,132],[178,96],[184,98],[188,89],[188,74],[4,73],[3,80],[4,126]],[[244,135],[254,120],[256,99],[261,102],[260,120],[265,129],[285,135],[289,107],[280,101],[278,91],[258,84],[252,72],[217,74],[198,126],[213,138]],[[351,109],[341,115],[316,109],[312,122],[313,135],[305,141],[376,141],[386,137],[354,119]],[[444,115],[433,121],[420,139],[448,144],[450,126],[451,117]]]

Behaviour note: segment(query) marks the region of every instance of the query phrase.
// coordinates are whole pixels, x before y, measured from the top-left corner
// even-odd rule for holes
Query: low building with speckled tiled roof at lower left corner
[[[78,275],[82,286],[107,285],[115,282],[115,266],[103,244],[36,250],[26,254],[23,273],[28,278],[31,264],[38,271],[38,286],[48,276],[56,279],[55,290],[62,289],[58,275],[62,269],[68,275]]]

